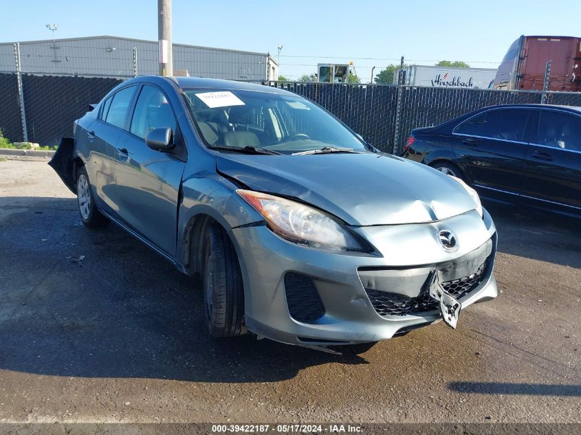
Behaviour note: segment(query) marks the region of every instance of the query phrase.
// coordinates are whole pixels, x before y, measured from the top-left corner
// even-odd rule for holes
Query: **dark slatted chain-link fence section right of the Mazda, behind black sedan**
[[[325,107],[364,140],[400,153],[410,130],[435,126],[494,104],[540,104],[541,91],[496,91],[452,87],[265,82]],[[547,92],[547,104],[581,106],[581,93]]]

